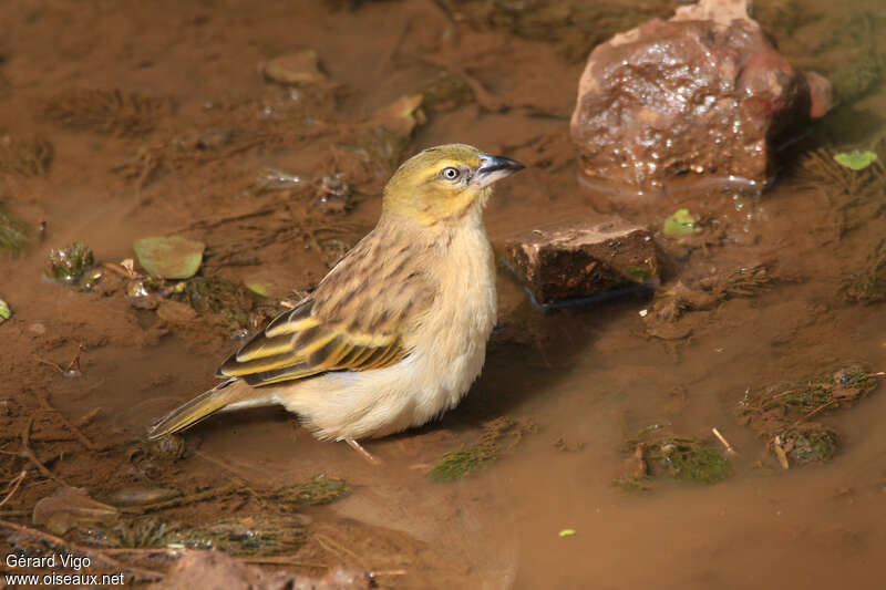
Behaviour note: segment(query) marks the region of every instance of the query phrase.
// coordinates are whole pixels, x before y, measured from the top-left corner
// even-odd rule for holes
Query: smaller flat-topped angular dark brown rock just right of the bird
[[[651,232],[618,218],[533,229],[508,239],[505,255],[540,306],[659,278]]]

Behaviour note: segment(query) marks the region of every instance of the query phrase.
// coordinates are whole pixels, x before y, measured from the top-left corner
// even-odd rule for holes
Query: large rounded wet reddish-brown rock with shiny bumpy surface
[[[598,45],[570,130],[589,177],[640,188],[681,175],[763,184],[780,141],[831,102],[830,83],[794,70],[745,0],[702,0]]]

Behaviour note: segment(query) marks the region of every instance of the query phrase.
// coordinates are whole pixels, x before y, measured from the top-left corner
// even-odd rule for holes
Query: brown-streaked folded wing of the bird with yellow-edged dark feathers
[[[433,304],[435,283],[403,249],[408,245],[393,252],[380,246],[381,239],[367,236],[310,297],[230,355],[217,376],[261,386],[381,369],[405,356],[405,340]]]

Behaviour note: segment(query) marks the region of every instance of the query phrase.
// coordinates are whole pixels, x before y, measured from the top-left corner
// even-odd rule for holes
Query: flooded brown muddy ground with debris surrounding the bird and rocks
[[[886,21],[759,3],[839,103],[762,194],[650,197],[579,179],[568,122],[598,31],[670,2],[4,2],[0,553],[143,587],[215,548],[354,588],[878,588]],[[369,442],[382,466],[277,408],[145,442],[374,225],[399,162],[450,142],[527,165],[486,210],[499,260],[620,215],[660,282],[543,311],[502,261],[482,376]],[[195,276],[140,266],[134,241],[167,236],[205,247]]]

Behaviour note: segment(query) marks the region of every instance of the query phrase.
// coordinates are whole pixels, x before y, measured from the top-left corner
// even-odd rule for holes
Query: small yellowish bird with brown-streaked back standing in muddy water
[[[454,407],[480,375],[496,322],[483,225],[492,184],[525,166],[463,144],[425,149],[384,187],[375,228],[293,309],[218,369],[225,381],[150,438],[218,411],[280,404],[323,441],[358,443]]]

